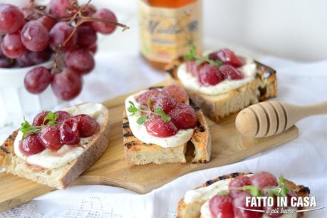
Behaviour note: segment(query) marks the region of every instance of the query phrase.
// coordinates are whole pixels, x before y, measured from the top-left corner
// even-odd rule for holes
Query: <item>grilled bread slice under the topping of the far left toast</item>
[[[5,167],[7,173],[24,177],[28,180],[55,187],[66,188],[73,180],[87,170],[98,158],[103,155],[109,143],[108,110],[105,113],[103,125],[94,135],[89,137],[88,145],[83,153],[73,162],[55,169],[46,169],[30,165],[26,160],[19,158],[14,152],[14,141],[19,130],[9,135],[0,147],[0,167]]]

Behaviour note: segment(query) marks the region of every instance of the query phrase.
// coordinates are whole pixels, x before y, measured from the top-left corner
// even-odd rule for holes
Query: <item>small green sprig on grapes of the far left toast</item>
[[[49,112],[43,119],[42,125],[31,125],[28,123],[27,120],[24,118],[24,122],[21,123],[21,132],[23,133],[23,140],[31,134],[39,133],[43,128],[45,128],[48,125],[58,125],[59,123],[56,121],[58,118],[58,114]]]

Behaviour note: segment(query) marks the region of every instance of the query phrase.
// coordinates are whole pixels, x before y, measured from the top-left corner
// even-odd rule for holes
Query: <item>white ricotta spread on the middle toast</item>
[[[130,95],[125,100],[126,114],[128,115],[130,130],[132,130],[133,135],[142,142],[159,145],[160,147],[177,147],[188,142],[193,135],[194,129],[178,130],[175,135],[170,137],[155,137],[147,133],[147,128],[144,124],[140,125],[136,123],[137,119],[140,118],[142,114],[137,112],[134,115],[131,115],[132,113],[128,112],[128,107],[130,107],[129,101],[132,101],[135,104],[135,107],[139,108],[140,103],[137,103],[135,96],[138,96],[145,91],[136,93],[135,95]]]

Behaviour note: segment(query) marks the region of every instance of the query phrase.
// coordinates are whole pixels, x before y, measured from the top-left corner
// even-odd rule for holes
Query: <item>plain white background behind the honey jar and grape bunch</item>
[[[136,50],[137,1],[93,0],[92,4],[112,9],[131,27],[128,33],[105,38],[101,51]],[[327,58],[326,0],[203,0],[203,4],[206,45],[227,41],[299,61]]]

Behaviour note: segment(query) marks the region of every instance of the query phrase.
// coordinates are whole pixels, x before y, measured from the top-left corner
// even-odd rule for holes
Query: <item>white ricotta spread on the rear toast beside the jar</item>
[[[240,68],[237,68],[237,70],[244,74],[244,78],[242,80],[226,79],[217,85],[204,86],[199,83],[196,77],[187,72],[185,63],[182,63],[179,66],[177,70],[177,78],[182,82],[185,88],[194,90],[198,93],[205,95],[220,95],[227,93],[230,90],[234,90],[236,88],[242,87],[243,85],[246,85],[247,83],[251,83],[251,81],[253,81],[256,76],[256,63],[254,63],[254,60],[248,57],[243,58],[245,61],[244,65]]]

